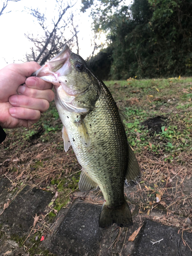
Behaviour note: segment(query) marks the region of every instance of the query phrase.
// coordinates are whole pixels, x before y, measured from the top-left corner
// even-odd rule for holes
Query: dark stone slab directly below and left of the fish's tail
[[[124,240],[126,238],[128,242],[133,229],[120,231],[116,225],[107,229],[99,228],[100,210],[101,206],[98,205],[75,203],[43,247],[57,256],[111,256],[119,255],[120,251],[121,256],[129,255],[133,243],[124,246]]]

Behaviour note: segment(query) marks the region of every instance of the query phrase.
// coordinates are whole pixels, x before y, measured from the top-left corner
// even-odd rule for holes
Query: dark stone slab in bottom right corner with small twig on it
[[[145,220],[139,236],[135,241],[132,255],[136,256],[189,256],[192,255],[192,234],[183,232],[183,239],[188,244],[184,246],[182,233],[178,234],[175,227],[165,226],[160,223]],[[159,243],[153,244],[163,239]]]

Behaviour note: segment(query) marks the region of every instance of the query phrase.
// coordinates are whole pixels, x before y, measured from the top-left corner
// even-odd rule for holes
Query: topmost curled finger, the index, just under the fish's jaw
[[[26,85],[30,88],[35,88],[38,90],[47,90],[47,89],[52,89],[53,84],[50,82],[46,82],[39,77],[28,77],[25,81]]]

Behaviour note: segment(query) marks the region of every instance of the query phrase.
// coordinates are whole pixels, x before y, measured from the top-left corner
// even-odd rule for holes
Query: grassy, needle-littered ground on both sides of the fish
[[[124,112],[127,139],[141,167],[141,183],[126,193],[136,212],[135,222],[160,209],[165,214],[157,221],[192,232],[180,219],[192,219],[192,78],[130,78],[105,84]],[[29,129],[7,130],[0,145],[0,174],[12,181],[14,189],[28,184],[57,193],[48,221],[74,200],[81,169],[72,148],[63,150],[61,129],[52,102],[38,123]],[[102,204],[98,196],[83,200]]]

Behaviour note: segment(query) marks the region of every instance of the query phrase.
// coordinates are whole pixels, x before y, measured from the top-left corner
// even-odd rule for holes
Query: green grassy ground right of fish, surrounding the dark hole
[[[191,151],[191,83],[191,78],[105,82],[126,116],[127,139],[136,152],[147,148],[164,161],[173,161]],[[157,116],[166,121],[152,134],[141,123]]]

